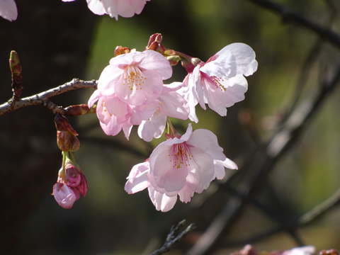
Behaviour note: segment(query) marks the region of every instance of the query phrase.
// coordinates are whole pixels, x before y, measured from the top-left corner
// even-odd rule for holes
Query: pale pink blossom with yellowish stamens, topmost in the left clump
[[[153,50],[118,55],[101,73],[98,90],[102,96],[118,96],[133,106],[150,103],[162,93],[163,80],[169,79],[169,61]]]

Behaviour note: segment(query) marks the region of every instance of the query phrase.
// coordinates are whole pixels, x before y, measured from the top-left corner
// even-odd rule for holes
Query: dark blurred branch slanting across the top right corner
[[[273,1],[269,0],[248,0],[258,6],[271,10],[275,13],[278,13],[283,18],[284,22],[292,22],[296,23],[297,25],[303,26],[308,30],[312,30],[312,32],[319,35],[324,40],[331,42],[331,44],[335,45],[336,47],[340,47],[340,36],[335,33],[333,30],[325,28],[324,26],[319,25],[314,21],[311,21],[308,18],[305,18],[301,13],[294,11],[287,6],[282,4],[278,4]]]

